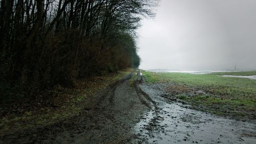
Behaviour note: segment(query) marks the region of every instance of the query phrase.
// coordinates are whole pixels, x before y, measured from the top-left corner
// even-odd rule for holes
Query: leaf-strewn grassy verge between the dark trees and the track
[[[56,86],[54,90],[52,90],[52,98],[49,98],[51,99],[49,105],[38,106],[32,110],[25,110],[18,114],[16,112],[10,112],[1,116],[0,134],[38,126],[43,127],[77,115],[82,110],[82,100],[91,97],[109,84],[130,74],[132,70],[133,69],[126,69],[119,71],[117,74],[80,80],[76,82],[74,88]],[[11,109],[9,111],[11,111]]]

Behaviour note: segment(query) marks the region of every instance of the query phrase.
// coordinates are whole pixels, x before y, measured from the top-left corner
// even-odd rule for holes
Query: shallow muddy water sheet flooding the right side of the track
[[[156,103],[145,112],[135,132],[143,143],[256,143],[256,122],[239,122],[160,97],[161,91],[141,84]]]

